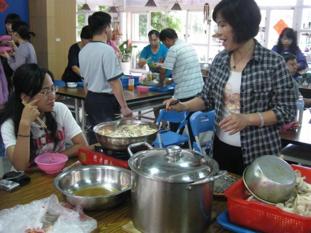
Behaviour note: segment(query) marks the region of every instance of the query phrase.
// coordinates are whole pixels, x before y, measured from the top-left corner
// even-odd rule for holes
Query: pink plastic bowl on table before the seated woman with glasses
[[[59,153],[44,153],[35,158],[38,167],[48,174],[53,174],[61,170],[68,160],[67,155]]]

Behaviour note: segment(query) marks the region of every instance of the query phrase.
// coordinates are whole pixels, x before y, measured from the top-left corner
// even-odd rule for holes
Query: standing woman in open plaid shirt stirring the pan
[[[295,94],[284,59],[262,47],[260,10],[254,0],[222,0],[213,11],[217,37],[225,50],[216,55],[196,98],[167,110],[215,109],[210,156],[224,169],[242,175],[262,155],[278,155],[280,128],[292,122]]]

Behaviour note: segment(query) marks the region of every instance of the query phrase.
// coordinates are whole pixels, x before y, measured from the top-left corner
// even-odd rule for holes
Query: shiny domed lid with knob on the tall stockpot
[[[179,146],[140,151],[128,163],[140,175],[165,182],[193,182],[213,176],[218,171],[216,160]]]

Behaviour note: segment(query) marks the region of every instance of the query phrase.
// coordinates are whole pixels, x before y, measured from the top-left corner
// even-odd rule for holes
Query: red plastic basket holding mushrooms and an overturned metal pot
[[[311,183],[311,168],[291,165],[300,170],[305,181]],[[230,221],[242,226],[268,233],[311,233],[311,217],[285,212],[273,205],[256,200],[247,201],[250,196],[243,180],[225,190]]]

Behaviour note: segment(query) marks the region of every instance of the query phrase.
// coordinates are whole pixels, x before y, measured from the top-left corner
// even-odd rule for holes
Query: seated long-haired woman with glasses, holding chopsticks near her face
[[[13,75],[14,92],[0,111],[0,125],[6,155],[17,170],[34,165],[35,157],[44,152],[71,157],[87,146],[68,107],[55,102],[57,87],[53,82],[51,71],[37,64],[24,64]],[[25,107],[23,100],[27,103]],[[39,124],[37,116],[47,129]],[[73,146],[65,149],[68,140]]]

